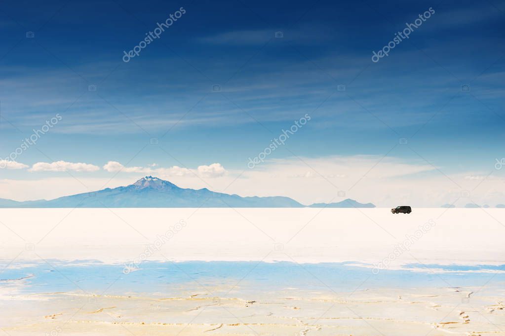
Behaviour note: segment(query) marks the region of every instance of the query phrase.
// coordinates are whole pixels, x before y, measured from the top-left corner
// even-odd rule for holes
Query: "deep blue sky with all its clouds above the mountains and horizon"
[[[2,3],[0,198],[153,175],[505,204],[504,18],[497,0]]]

